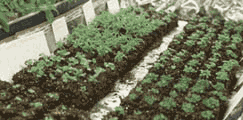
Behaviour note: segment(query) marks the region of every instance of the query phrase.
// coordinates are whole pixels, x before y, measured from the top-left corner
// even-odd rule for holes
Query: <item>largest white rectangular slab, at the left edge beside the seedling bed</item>
[[[19,72],[29,59],[39,59],[39,54],[50,55],[44,32],[38,32],[25,38],[4,44],[0,50],[0,80],[12,82],[12,77]]]

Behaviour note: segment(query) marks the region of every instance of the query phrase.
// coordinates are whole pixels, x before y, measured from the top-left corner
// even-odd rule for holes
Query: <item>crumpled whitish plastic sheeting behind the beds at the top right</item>
[[[179,18],[189,20],[196,16],[200,7],[204,6],[207,13],[210,7],[218,9],[221,15],[228,21],[243,20],[243,0],[136,0],[140,4],[151,3],[155,8],[179,9]]]

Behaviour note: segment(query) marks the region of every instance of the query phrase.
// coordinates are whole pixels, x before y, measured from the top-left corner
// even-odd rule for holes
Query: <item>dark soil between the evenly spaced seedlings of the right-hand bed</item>
[[[203,11],[200,11],[198,14],[198,18],[205,16],[205,13]],[[193,24],[196,25],[196,23],[193,22],[189,22],[189,24]],[[219,26],[218,28],[224,28],[224,21],[221,24],[221,26]],[[240,24],[238,24],[239,26]],[[208,26],[211,26],[213,28],[215,28],[214,25],[208,23]],[[200,28],[196,28],[193,30],[186,30],[184,29],[186,32],[181,33],[181,35],[183,35],[183,39],[178,40],[177,38],[174,38],[174,40],[178,40],[181,43],[177,44],[174,40],[169,44],[168,49],[170,49],[171,55],[165,55],[165,53],[161,53],[160,57],[162,56],[166,56],[167,62],[163,63],[163,66],[159,67],[159,69],[156,69],[155,67],[152,67],[146,78],[149,78],[149,74],[155,74],[157,75],[156,78],[154,78],[153,80],[151,80],[151,82],[149,83],[142,83],[139,82],[136,86],[136,88],[141,87],[143,91],[143,93],[141,93],[141,91],[137,91],[136,88],[134,88],[131,92],[131,94],[135,94],[136,97],[134,98],[134,100],[131,100],[131,98],[129,97],[129,95],[123,99],[121,101],[121,107],[123,108],[124,112],[119,112],[119,110],[117,112],[110,112],[108,113],[107,116],[105,116],[105,118],[103,120],[109,120],[110,118],[118,118],[118,120],[155,120],[155,116],[159,115],[159,114],[163,114],[165,117],[167,117],[166,120],[206,120],[205,118],[202,117],[201,112],[205,111],[205,110],[210,110],[213,112],[214,118],[211,118],[210,120],[222,120],[226,110],[228,109],[228,101],[224,101],[221,100],[217,95],[212,94],[212,91],[216,91],[216,89],[213,87],[213,85],[216,85],[216,83],[221,82],[224,84],[225,89],[221,90],[220,92],[223,93],[224,96],[226,96],[227,98],[230,98],[232,95],[232,92],[235,91],[233,88],[235,87],[235,84],[237,82],[237,79],[235,77],[236,71],[239,70],[240,67],[236,67],[234,66],[233,69],[231,71],[228,72],[228,76],[229,76],[229,80],[227,81],[222,81],[222,80],[218,80],[216,79],[216,73],[220,71],[220,69],[218,68],[214,68],[211,70],[210,74],[211,76],[209,78],[206,77],[199,77],[200,74],[200,70],[205,70],[207,69],[204,65],[205,64],[209,64],[209,58],[212,58],[212,46],[215,45],[215,41],[217,39],[215,38],[210,38],[210,42],[208,42],[207,46],[205,48],[200,48],[199,45],[195,44],[191,47],[187,46],[186,44],[183,44],[184,42],[188,41],[188,36],[190,36],[192,33],[194,33],[195,31],[198,30],[202,30]],[[221,34],[221,30],[218,30],[218,32],[216,32],[215,34]],[[205,34],[207,32],[205,31]],[[234,34],[234,33],[231,33]],[[216,36],[216,38],[218,37],[218,35]],[[241,35],[241,37],[243,37]],[[200,37],[201,38],[201,37]],[[196,40],[195,40],[196,41]],[[221,66],[223,64],[224,60],[230,60],[230,59],[235,59],[236,61],[240,61],[240,58],[242,57],[242,53],[241,51],[243,50],[243,47],[240,44],[243,44],[243,42],[237,43],[239,45],[237,45],[237,49],[236,50],[232,50],[237,56],[239,56],[238,58],[233,58],[233,57],[229,57],[226,55],[226,46],[227,45],[223,45],[223,47],[218,50],[218,53],[221,54],[222,57],[219,58],[218,62],[216,62],[216,67]],[[188,53],[185,54],[182,59],[181,62],[174,62],[172,61],[172,58],[175,57],[177,55],[177,53],[182,52],[183,50],[187,50]],[[193,54],[198,54],[200,51],[206,51],[205,55],[202,56],[202,58],[192,58]],[[197,66],[194,66],[193,69],[196,72],[193,73],[186,73],[185,71],[183,71],[183,69],[185,68],[185,65],[188,61],[195,59],[198,60],[198,62],[200,63]],[[162,64],[162,62],[160,62],[160,64]],[[239,62],[240,65],[242,65],[242,62]],[[175,65],[176,69],[171,69],[171,66]],[[172,79],[170,81],[168,81],[168,85],[165,87],[159,87],[157,86],[155,83],[157,83],[157,81],[161,80],[160,77],[162,75],[170,75],[172,77]],[[176,84],[178,83],[182,83],[180,80],[180,78],[182,77],[188,77],[191,78],[191,81],[188,83],[188,89],[186,89],[185,91],[179,91],[178,89],[174,88]],[[197,83],[197,81],[199,79],[204,79],[204,80],[208,80],[208,86],[204,88],[204,92],[201,93],[197,93],[197,92],[192,92],[192,87]],[[202,86],[202,84],[199,84],[198,87]],[[153,93],[153,92],[147,92],[147,91],[151,91],[151,89],[157,89],[159,90],[159,93]],[[172,97],[170,95],[171,91],[176,91],[176,93],[178,93],[178,96],[176,97]],[[182,109],[182,104],[183,103],[189,103],[186,99],[186,97],[191,96],[191,94],[196,94],[196,95],[200,95],[201,99],[200,101],[198,101],[197,103],[193,104],[194,105],[194,112],[185,112]],[[145,97],[149,96],[148,99],[152,99],[152,97],[156,98],[155,101],[153,101],[152,104],[148,104],[147,101],[149,100],[145,100]],[[162,106],[160,106],[160,102],[163,101],[166,97],[170,97],[173,98],[173,100],[176,102],[176,106],[172,109],[165,109],[162,108]],[[208,108],[207,106],[205,106],[202,102],[203,99],[208,99],[208,98],[214,98],[216,100],[219,100],[219,106],[215,107],[215,108]],[[165,103],[164,103],[165,104]],[[134,112],[142,112],[141,114],[136,114]],[[156,120],[165,120],[162,119],[162,117],[159,119],[157,118]]]

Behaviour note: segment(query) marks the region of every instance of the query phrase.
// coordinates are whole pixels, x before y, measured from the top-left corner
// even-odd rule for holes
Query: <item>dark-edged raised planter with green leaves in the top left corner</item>
[[[12,35],[14,35],[15,33],[17,32],[20,32],[20,31],[23,31],[25,29],[28,29],[30,27],[33,27],[33,26],[36,26],[36,25],[39,25],[41,23],[43,23],[43,21],[49,21],[48,19],[50,19],[50,22],[51,20],[53,20],[53,18],[51,19],[50,16],[53,15],[53,17],[56,17],[60,14],[63,14],[71,9],[73,9],[74,7],[76,6],[79,6],[80,4],[84,4],[85,2],[87,2],[87,0],[77,0],[77,1],[73,1],[71,3],[67,2],[66,0],[62,0],[60,2],[56,1],[57,3],[55,3],[55,8],[56,10],[58,11],[54,11],[52,10],[51,12],[44,12],[43,10],[42,11],[37,11],[37,12],[27,12],[27,14],[25,15],[15,15],[16,17],[12,17],[11,19],[9,17],[7,17],[7,21],[5,21],[4,23],[5,24],[1,24],[3,26],[0,26],[1,29],[0,29],[0,41],[2,39],[5,39],[7,37],[10,37]],[[97,5],[96,5],[97,6]],[[42,6],[43,7],[43,6]],[[10,8],[9,8],[10,9]],[[44,9],[46,9],[44,7]],[[5,10],[6,11],[6,10]],[[18,13],[18,11],[14,12],[3,12],[4,15],[5,14],[9,14],[10,15],[13,15],[13,14],[20,14]],[[3,20],[4,18],[2,18]],[[33,22],[29,22],[29,21],[33,21]],[[9,26],[9,31],[7,31],[7,25],[6,25],[6,22]],[[28,24],[26,24],[28,23]],[[3,29],[4,28],[4,29]]]

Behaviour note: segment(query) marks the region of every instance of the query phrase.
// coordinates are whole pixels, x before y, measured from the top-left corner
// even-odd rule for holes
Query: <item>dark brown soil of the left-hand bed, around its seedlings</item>
[[[148,11],[148,10],[146,10]],[[155,14],[150,11],[151,14]],[[161,19],[163,16],[160,16]],[[150,18],[147,18],[150,19]],[[112,92],[112,88],[115,85],[116,80],[121,79],[121,82],[125,82],[127,76],[124,75],[130,71],[141,59],[147,55],[149,51],[157,48],[162,43],[162,37],[172,31],[178,26],[177,18],[173,18],[171,23],[167,26],[159,26],[158,29],[146,36],[133,37],[142,38],[144,42],[141,42],[131,51],[126,59],[121,62],[114,62],[114,57],[117,51],[121,51],[121,48],[112,50],[111,53],[105,56],[98,56],[97,51],[94,53],[84,52],[80,48],[74,48],[71,44],[64,44],[62,48],[58,48],[54,51],[55,55],[58,55],[58,50],[67,50],[68,55],[63,56],[60,62],[54,62],[53,65],[43,68],[44,73],[47,76],[37,78],[37,73],[29,73],[28,70],[33,65],[28,65],[27,68],[22,69],[13,76],[13,84],[7,82],[0,82],[1,90],[1,106],[0,117],[1,119],[22,119],[22,120],[36,120],[43,119],[48,116],[52,116],[54,119],[74,119],[84,120],[89,119],[89,112],[94,105],[108,93]],[[101,28],[102,25],[99,25]],[[126,28],[119,30],[119,35],[125,34]],[[91,70],[88,70],[83,65],[71,65],[73,68],[82,69],[86,75],[94,75],[96,67],[102,67],[106,72],[100,73],[96,77],[97,82],[87,82],[88,76],[79,77],[77,81],[68,80],[64,82],[61,76],[64,73],[57,72],[57,66],[67,66],[68,58],[74,57],[77,52],[86,56],[86,59],[95,58],[97,63],[89,63]],[[58,55],[59,56],[59,55]],[[50,57],[48,57],[49,59]],[[40,57],[38,61],[44,60]],[[104,66],[104,62],[112,62],[115,65],[115,70]],[[55,78],[52,79],[48,75],[52,73]],[[71,72],[70,75],[73,75]],[[86,86],[87,91],[83,92],[80,89],[81,86]],[[65,110],[66,109],[66,110]]]

